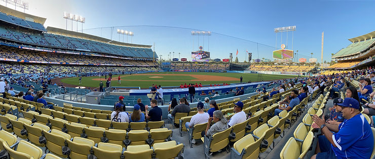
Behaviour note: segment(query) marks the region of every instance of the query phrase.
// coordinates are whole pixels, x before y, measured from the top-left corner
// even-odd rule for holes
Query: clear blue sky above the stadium
[[[174,57],[190,59],[190,52],[200,45],[211,52],[213,58],[228,58],[229,53],[245,60],[245,50],[253,52],[254,58],[272,59],[275,50],[274,28],[296,26],[293,49],[298,58],[313,58],[320,62],[321,33],[324,31],[323,61],[330,61],[331,53],[350,44],[347,40],[375,30],[372,20],[374,1],[27,1],[26,13],[47,18],[45,26],[66,27],[63,12],[86,17],[84,32],[110,38],[110,28],[115,27],[113,39],[119,40],[117,28],[134,32],[133,43],[155,43],[155,50],[163,59],[169,52]],[[0,2],[0,5],[5,5]],[[14,7],[10,7],[14,8]],[[21,10],[21,9],[18,9]],[[212,31],[209,37],[193,37],[191,29],[176,29],[173,26]],[[68,30],[71,22],[67,23]],[[73,23],[73,30],[76,30]],[[81,30],[81,25],[79,25]],[[85,30],[90,29],[90,30]],[[225,34],[246,40],[232,38]],[[277,49],[280,48],[280,33]],[[288,49],[292,47],[292,34],[288,33]],[[123,41],[123,37],[120,37]],[[126,38],[124,38],[126,42]],[[194,41],[194,45],[193,45]],[[203,42],[204,41],[204,42]],[[250,42],[253,41],[253,42]],[[286,44],[286,33],[283,43]],[[130,42],[130,38],[129,38]],[[258,44],[257,44],[258,43]],[[209,46],[208,46],[209,45]],[[234,56],[235,57],[235,56]],[[172,58],[172,57],[171,57]]]

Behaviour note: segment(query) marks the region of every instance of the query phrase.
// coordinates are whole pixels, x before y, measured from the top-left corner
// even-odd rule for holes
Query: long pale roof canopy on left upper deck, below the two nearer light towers
[[[152,47],[152,45],[142,45],[142,44],[132,44],[132,43],[126,43],[126,42],[119,42],[119,41],[110,40],[110,39],[95,36],[95,35],[90,35],[90,34],[85,34],[85,33],[80,33],[80,32],[75,32],[75,31],[69,31],[69,30],[50,27],[50,26],[47,27],[47,31],[49,33],[52,33],[52,34],[58,34],[58,35],[64,35],[64,36],[70,36],[70,37],[77,37],[77,38],[99,41],[99,42],[104,42],[104,43],[109,43],[109,44],[114,44],[114,45],[120,45],[120,46],[142,47],[142,48],[151,48]]]

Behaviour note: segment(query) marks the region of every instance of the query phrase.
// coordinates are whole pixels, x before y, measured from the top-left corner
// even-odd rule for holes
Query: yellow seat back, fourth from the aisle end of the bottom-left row
[[[90,149],[94,146],[94,141],[82,137],[74,137],[73,141],[65,140],[70,148],[70,158],[87,159]]]

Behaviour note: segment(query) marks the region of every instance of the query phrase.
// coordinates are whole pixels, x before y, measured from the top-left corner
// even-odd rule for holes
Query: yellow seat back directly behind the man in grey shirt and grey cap
[[[224,130],[212,135],[210,144],[211,152],[216,152],[229,144],[229,134],[231,129]],[[206,142],[206,141],[205,141]]]

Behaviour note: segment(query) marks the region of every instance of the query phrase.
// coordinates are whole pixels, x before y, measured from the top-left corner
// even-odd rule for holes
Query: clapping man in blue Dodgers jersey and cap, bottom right
[[[358,100],[345,98],[341,112],[345,118],[340,125],[325,123],[317,115],[313,116],[313,128],[320,128],[325,137],[319,137],[319,148],[311,158],[370,158],[373,136],[370,125],[360,113]],[[331,131],[337,132],[333,134]]]

